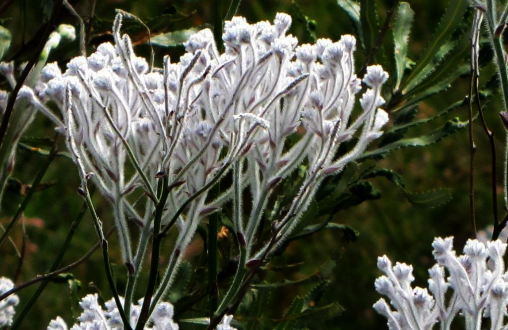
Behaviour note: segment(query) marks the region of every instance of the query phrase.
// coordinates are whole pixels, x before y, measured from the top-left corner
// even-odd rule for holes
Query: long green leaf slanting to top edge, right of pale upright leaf
[[[446,13],[439,21],[434,37],[417,61],[415,68],[404,80],[402,93],[406,94],[412,88],[418,86],[431,72],[436,65],[442,61],[456,45],[449,42],[452,33],[459,27],[463,15],[469,7],[467,0],[452,0],[449,2]]]

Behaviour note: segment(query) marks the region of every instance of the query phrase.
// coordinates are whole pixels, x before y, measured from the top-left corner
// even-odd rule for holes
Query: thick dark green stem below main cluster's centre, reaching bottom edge
[[[149,308],[150,303],[152,301],[153,292],[155,290],[156,284],[155,281],[157,279],[158,273],[159,255],[161,252],[161,242],[163,239],[163,236],[159,234],[161,233],[161,223],[162,216],[164,214],[164,207],[166,205],[166,200],[168,199],[170,191],[171,189],[168,186],[168,177],[167,175],[165,175],[163,178],[161,198],[158,200],[157,205],[155,207],[155,215],[153,219],[152,256],[150,260],[150,273],[149,273],[150,275],[148,277],[148,284],[146,285],[143,306],[141,307],[138,323],[136,324],[136,330],[143,329],[149,317]]]

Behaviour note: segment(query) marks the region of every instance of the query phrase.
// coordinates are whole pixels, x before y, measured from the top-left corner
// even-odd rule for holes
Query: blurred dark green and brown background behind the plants
[[[7,58],[22,62],[30,56],[34,40],[37,42],[34,36],[40,33],[39,29],[43,23],[44,6],[42,4],[44,3],[38,0],[15,0],[0,16],[0,22],[13,34],[13,44]],[[79,0],[70,3],[86,21],[91,12],[92,1]],[[437,19],[443,14],[446,4],[426,0],[412,0],[409,3],[416,13],[409,42],[409,57],[416,59],[430,39]],[[378,1],[377,5],[380,21],[383,22],[392,1]],[[112,39],[109,28],[116,8],[151,22],[151,26],[155,27],[152,33],[156,34],[213,24],[213,6],[213,1],[203,0],[98,0],[88,51],[93,51],[94,46]],[[301,42],[312,41],[306,22],[297,19],[302,13],[309,20],[315,21],[317,38],[338,40],[341,34],[355,32],[350,19],[334,0],[243,1],[238,15],[245,16],[250,22],[255,22],[271,20],[276,12],[292,14],[294,20],[291,33],[298,36]],[[168,15],[172,17],[171,20],[162,18]],[[76,19],[65,9],[62,10],[60,21],[75,26],[77,24]],[[159,23],[155,24],[157,21]],[[149,52],[146,45],[146,33],[142,29],[133,27],[130,34],[137,45],[138,54],[146,56]],[[170,54],[176,60],[183,53],[183,47],[158,45],[155,46],[155,53],[156,63],[160,66],[164,54]],[[365,52],[359,49],[357,53],[357,67],[359,67],[365,59]],[[65,63],[76,55],[78,55],[77,41],[63,45],[51,55],[49,61],[58,61],[62,67],[65,67]],[[489,66],[485,68],[485,71],[492,74],[492,68]],[[489,75],[485,76],[490,78]],[[3,88],[6,88],[5,82],[1,84]],[[468,84],[468,77],[461,77],[446,92],[420,103],[418,117],[432,116],[444,106],[462,99],[468,93]],[[499,97],[495,95],[486,108],[486,117],[495,132],[498,169],[502,166],[504,144],[504,128],[498,119],[498,112],[501,109],[502,104]],[[458,108],[451,117],[460,117],[465,120],[467,111],[466,107]],[[444,118],[440,123],[442,124],[446,119]],[[437,124],[433,122],[418,127],[411,134],[418,135],[430,131]],[[26,135],[52,137],[51,128],[52,125],[47,120],[37,117]],[[483,229],[492,223],[490,151],[488,140],[479,123],[474,125],[474,133],[478,146],[475,163],[477,223],[478,228]],[[13,176],[19,178],[24,184],[29,184],[43,160],[43,156],[20,149]],[[358,230],[360,236],[357,241],[346,242],[341,232],[327,230],[290,244],[279,260],[285,263],[296,263],[298,266],[278,274],[271,274],[271,281],[283,278],[301,279],[316,270],[328,267],[330,259],[335,262],[330,275],[332,282],[325,295],[333,297],[345,310],[340,317],[324,325],[329,329],[387,328],[386,320],[371,308],[379,298],[374,290],[374,279],[380,275],[375,266],[378,255],[387,254],[393,262],[413,264],[415,284],[427,286],[427,269],[433,265],[430,246],[433,237],[454,235],[456,246],[460,248],[471,235],[468,204],[469,145],[466,129],[426,148],[395,151],[382,160],[379,166],[391,168],[400,173],[405,179],[407,190],[418,192],[444,187],[450,189],[453,198],[446,205],[433,209],[417,208],[404,198],[402,191],[395,185],[383,178],[372,179],[373,185],[382,195],[381,198],[340,211],[334,219],[334,222],[346,224]],[[501,205],[502,173],[500,171],[497,173],[497,178],[498,199]],[[76,193],[79,180],[70,160],[58,158],[51,165],[44,181],[52,182],[52,185],[38,192],[31,200],[24,214],[22,226],[19,224],[13,234],[14,243],[24,254],[22,262],[11,244],[5,244],[0,250],[0,275],[16,279],[16,283],[44,273],[50,267],[59,246],[67,235],[70,224],[83,203]],[[9,222],[10,216],[15,212],[22,198],[21,192],[17,189],[10,188],[6,191],[0,216],[2,224]],[[94,201],[105,227],[108,228],[112,224],[109,205],[98,194],[94,196]],[[500,214],[504,213],[500,212]],[[23,231],[25,232],[24,239]],[[116,246],[115,238],[111,240],[110,245]],[[86,215],[62,265],[79,259],[95,242],[96,234],[91,219]],[[167,244],[164,248],[169,249],[170,245]],[[195,243],[195,254],[202,254],[202,244],[199,242]],[[111,255],[113,261],[120,262],[119,253],[114,248],[111,249]],[[197,257],[189,255],[188,259],[193,262]],[[118,281],[122,283],[123,267],[120,265],[116,269],[119,274]],[[57,315],[70,321],[73,309],[76,309],[74,313],[79,314],[73,294],[82,297],[89,292],[103,291],[104,297],[109,299],[110,293],[99,252],[71,272],[75,279],[79,280],[80,289],[73,293],[68,278],[52,282],[21,328],[45,328],[48,322]],[[293,298],[304,294],[309,287],[308,285],[285,285],[278,288],[277,298],[272,299],[271,305],[266,307],[267,311],[271,311],[270,317],[276,318],[283,315]],[[32,286],[19,292],[20,306],[30,297],[35,288],[36,286]],[[309,328],[323,327],[309,326]]]

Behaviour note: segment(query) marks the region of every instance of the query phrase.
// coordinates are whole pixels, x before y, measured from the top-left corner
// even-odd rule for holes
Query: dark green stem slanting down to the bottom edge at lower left
[[[93,192],[91,193],[93,194]],[[56,256],[55,261],[53,262],[53,265],[51,265],[51,268],[49,269],[48,273],[52,273],[55,270],[57,270],[58,266],[60,265],[60,262],[63,259],[63,255],[65,255],[65,252],[67,252],[69,245],[71,244],[71,240],[74,237],[74,233],[78,229],[79,224],[81,223],[81,219],[86,213],[87,210],[86,203],[81,207],[81,211],[79,212],[78,216],[74,220],[74,222],[71,224],[71,228],[69,229],[69,233],[67,234],[67,237],[65,241],[63,242],[63,245],[60,248],[60,251],[58,252],[58,255]],[[34,294],[30,297],[30,300],[26,305],[23,307],[23,310],[19,313],[19,316],[14,321],[13,325],[11,326],[11,330],[17,329],[19,325],[21,325],[21,322],[23,321],[24,317],[28,312],[30,311],[30,308],[34,306],[34,304],[37,302],[37,299],[42,294],[42,291],[46,288],[46,286],[49,283],[49,278],[44,280],[37,290],[34,292]]]

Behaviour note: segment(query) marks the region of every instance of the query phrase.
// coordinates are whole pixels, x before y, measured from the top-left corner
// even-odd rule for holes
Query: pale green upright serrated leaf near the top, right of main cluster
[[[395,57],[395,68],[397,80],[395,90],[399,89],[400,82],[404,76],[404,70],[408,66],[407,45],[409,43],[409,32],[415,18],[415,12],[411,10],[408,3],[402,2],[397,8],[397,16],[393,26],[393,40]]]

